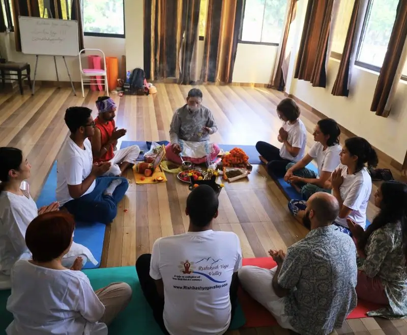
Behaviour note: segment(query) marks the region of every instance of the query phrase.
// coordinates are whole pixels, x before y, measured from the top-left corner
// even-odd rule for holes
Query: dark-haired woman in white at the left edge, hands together
[[[18,259],[31,258],[24,240],[28,224],[39,214],[58,211],[59,204],[38,209],[30,193],[20,188],[22,181],[31,176],[31,165],[20,149],[0,148],[0,161],[0,274],[9,276]],[[98,263],[88,248],[73,243],[64,257],[64,265],[71,266],[78,256],[83,264],[88,260]],[[0,280],[9,282],[8,279],[2,276]]]

